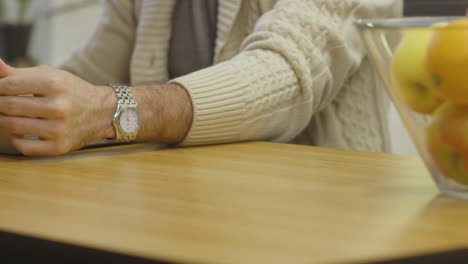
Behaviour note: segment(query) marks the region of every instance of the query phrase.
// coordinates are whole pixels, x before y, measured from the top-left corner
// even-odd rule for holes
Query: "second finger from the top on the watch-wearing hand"
[[[8,116],[57,120],[66,116],[66,104],[48,97],[0,96],[0,113]]]

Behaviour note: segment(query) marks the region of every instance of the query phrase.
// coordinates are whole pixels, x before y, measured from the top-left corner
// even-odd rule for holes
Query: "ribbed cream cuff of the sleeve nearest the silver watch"
[[[239,141],[239,129],[245,119],[246,83],[235,76],[227,63],[176,78],[186,88],[193,105],[192,127],[182,146]]]

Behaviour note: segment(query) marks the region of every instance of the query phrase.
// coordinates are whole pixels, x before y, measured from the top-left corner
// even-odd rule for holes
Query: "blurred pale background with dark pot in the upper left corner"
[[[57,66],[86,41],[101,11],[100,0],[0,0],[0,56]]]

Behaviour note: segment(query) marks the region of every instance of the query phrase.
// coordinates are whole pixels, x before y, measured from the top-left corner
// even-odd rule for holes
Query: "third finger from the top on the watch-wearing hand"
[[[0,115],[0,128],[10,134],[37,136],[42,139],[60,139],[65,136],[62,122],[56,120]]]

